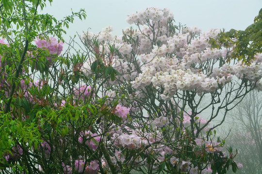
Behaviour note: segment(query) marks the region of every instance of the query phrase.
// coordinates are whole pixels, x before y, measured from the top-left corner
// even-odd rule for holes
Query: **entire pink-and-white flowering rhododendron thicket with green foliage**
[[[112,27],[83,32],[76,54],[61,55],[61,41],[36,35],[21,70],[1,67],[1,172],[236,172],[232,149],[226,156],[225,140],[214,139],[223,120],[211,121],[261,90],[262,54],[250,65],[226,63],[234,44],[213,48],[218,29],[176,26],[173,18],[168,9],[141,10],[127,18],[137,29],[120,36]],[[9,47],[0,45],[8,65]]]

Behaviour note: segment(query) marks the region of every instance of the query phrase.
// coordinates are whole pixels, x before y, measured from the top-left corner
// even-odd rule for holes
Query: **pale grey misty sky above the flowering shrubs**
[[[169,8],[177,24],[188,27],[244,30],[258,15],[262,0],[54,0],[51,6],[47,3],[42,13],[62,19],[71,14],[71,9],[85,9],[86,20],[75,18],[74,24],[66,29],[67,40],[76,32],[81,34],[91,28],[97,33],[107,26],[114,28],[113,34],[120,35],[122,29],[130,26],[127,16],[147,7]]]

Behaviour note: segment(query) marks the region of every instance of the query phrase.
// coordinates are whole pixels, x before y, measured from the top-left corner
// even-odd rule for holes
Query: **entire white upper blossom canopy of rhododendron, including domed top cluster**
[[[144,89],[149,85],[163,87],[164,93],[161,96],[164,100],[169,100],[178,90],[196,89],[198,94],[213,92],[229,83],[233,75],[246,78],[262,90],[261,54],[249,66],[239,62],[216,68],[220,59],[225,59],[230,54],[229,50],[232,50],[211,48],[209,40],[215,39],[220,30],[210,29],[201,33],[197,27],[186,27],[180,33],[169,34],[171,29],[166,24],[172,19],[173,14],[167,9],[147,8],[127,18],[130,24],[139,25],[139,30],[124,29],[123,35],[111,37],[113,29],[107,27],[94,36],[99,41],[104,41],[103,47],[114,43],[115,48],[123,55],[123,59],[115,57],[113,63],[117,71],[125,74],[122,80],[134,79],[131,84],[136,89]],[[93,34],[85,35],[89,39]],[[127,43],[123,37],[135,40],[137,47],[133,48],[134,44]],[[155,45],[159,41],[161,44]],[[130,67],[133,66],[130,65],[133,62],[129,61],[133,56],[132,50],[140,55],[139,63],[143,63],[139,74],[131,73],[133,71]],[[88,66],[85,68],[90,69]]]

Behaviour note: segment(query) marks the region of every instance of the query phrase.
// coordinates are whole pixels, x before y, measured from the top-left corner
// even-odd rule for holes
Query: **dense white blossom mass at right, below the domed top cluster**
[[[236,70],[236,67],[240,68],[238,64],[229,66],[229,69],[226,69],[225,66],[220,69],[214,68],[213,72],[210,73],[207,71],[204,73],[198,69],[207,60],[216,60],[226,56],[226,49],[211,49],[208,43],[209,37],[217,37],[218,32],[218,29],[211,29],[200,34],[199,38],[191,39],[190,43],[190,33],[167,38],[167,45],[155,47],[150,54],[141,55],[141,61],[145,63],[141,69],[147,69],[147,71],[139,74],[132,82],[133,87],[144,88],[151,81],[155,87],[164,87],[164,93],[161,96],[164,100],[169,100],[177,90],[197,88],[199,94],[201,92],[213,92],[219,86],[223,87],[226,83],[229,83],[233,75],[243,76],[245,74],[245,78],[251,81],[261,79],[262,67],[261,63],[258,63],[260,58],[257,58],[258,60],[248,67],[241,64],[243,68],[242,72],[239,73]],[[172,59],[167,54],[174,54],[176,57],[182,58],[180,60]],[[259,81],[256,86],[260,87],[260,84]]]

